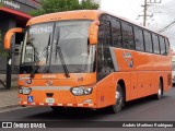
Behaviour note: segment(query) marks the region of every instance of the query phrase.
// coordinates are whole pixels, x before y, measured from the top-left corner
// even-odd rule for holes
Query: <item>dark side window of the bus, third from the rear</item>
[[[153,41],[153,52],[155,53],[160,53],[160,44],[159,44],[159,38],[158,35],[152,34],[152,41]]]

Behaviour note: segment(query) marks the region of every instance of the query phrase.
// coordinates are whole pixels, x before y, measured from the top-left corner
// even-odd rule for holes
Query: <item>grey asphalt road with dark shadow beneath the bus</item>
[[[49,107],[21,107],[0,112],[0,121],[175,121],[175,87],[160,100],[147,97],[129,102],[116,115],[104,109],[66,109],[56,114]]]

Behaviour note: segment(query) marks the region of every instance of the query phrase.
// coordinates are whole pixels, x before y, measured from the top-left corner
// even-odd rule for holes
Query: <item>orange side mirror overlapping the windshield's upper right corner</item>
[[[100,21],[94,21],[91,23],[89,27],[89,38],[90,38],[90,44],[92,45],[97,44],[98,25]]]

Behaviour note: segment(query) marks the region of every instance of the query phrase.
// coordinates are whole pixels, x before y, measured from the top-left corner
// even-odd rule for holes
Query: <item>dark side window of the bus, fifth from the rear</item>
[[[135,44],[137,50],[144,50],[143,33],[138,27],[135,27]]]

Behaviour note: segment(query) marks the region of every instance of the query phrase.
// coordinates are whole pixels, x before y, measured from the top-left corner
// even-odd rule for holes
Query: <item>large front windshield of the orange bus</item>
[[[91,22],[62,21],[27,27],[20,73],[35,69],[35,73],[63,73],[62,59],[70,73],[93,72],[96,46],[89,44]]]

